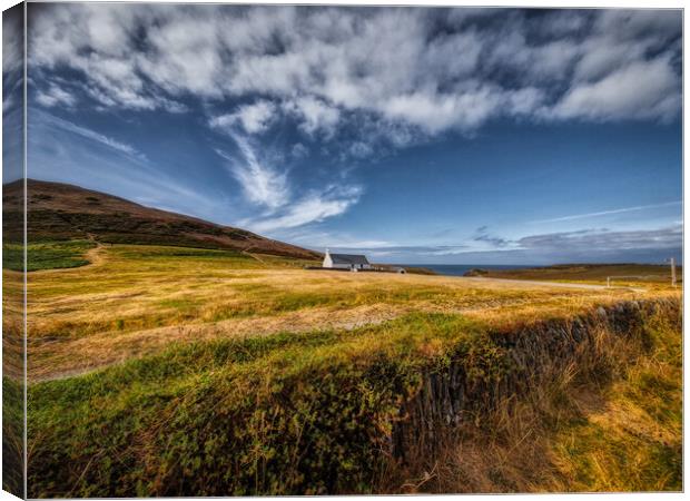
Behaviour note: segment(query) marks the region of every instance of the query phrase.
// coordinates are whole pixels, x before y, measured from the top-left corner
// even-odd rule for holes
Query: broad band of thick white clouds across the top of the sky
[[[677,117],[680,19],[679,11],[620,9],[528,17],[481,9],[56,4],[37,10],[30,58],[39,71],[80,71],[103,107],[179,111],[179,100],[191,97],[213,110],[260,98],[273,105],[236,111],[247,132],[265,130],[275,106],[307,135],[328,139],[348,120],[367,120],[367,135],[400,146],[515,115]]]

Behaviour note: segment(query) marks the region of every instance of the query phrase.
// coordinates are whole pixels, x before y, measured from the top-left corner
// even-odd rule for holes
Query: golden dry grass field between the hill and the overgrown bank
[[[89,250],[89,259],[80,268],[29,274],[30,381],[156,353],[174,341],[353,328],[410,312],[520,322],[644,295],[306,271],[306,262],[181,247],[106,245]],[[14,275],[6,271],[6,283]]]

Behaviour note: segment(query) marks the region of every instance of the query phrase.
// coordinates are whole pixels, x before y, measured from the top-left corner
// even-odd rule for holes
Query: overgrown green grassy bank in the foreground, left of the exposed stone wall
[[[397,406],[431,363],[418,347],[469,351],[477,333],[459,316],[412,315],[177,346],[33,385],[32,495],[371,490]]]

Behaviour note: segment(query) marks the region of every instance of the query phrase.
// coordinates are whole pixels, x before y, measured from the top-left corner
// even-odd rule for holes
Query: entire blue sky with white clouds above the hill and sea
[[[30,3],[27,170],[375,262],[680,259],[681,19]]]

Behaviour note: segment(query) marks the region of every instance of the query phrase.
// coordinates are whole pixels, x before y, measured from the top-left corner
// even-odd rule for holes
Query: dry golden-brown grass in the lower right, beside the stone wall
[[[678,307],[652,308],[622,338],[599,331],[595,350],[454,429],[436,454],[396,471],[388,491],[682,490]]]

